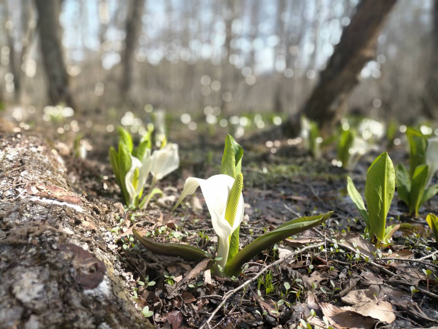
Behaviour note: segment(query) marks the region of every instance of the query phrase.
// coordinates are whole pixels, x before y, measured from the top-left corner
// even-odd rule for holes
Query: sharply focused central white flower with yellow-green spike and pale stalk
[[[205,203],[212,217],[213,229],[218,235],[217,257],[222,257],[222,259],[217,262],[217,265],[225,268],[230,250],[231,234],[237,229],[244,217],[243,175],[237,175],[236,179],[222,174],[214,175],[208,179],[189,177],[186,179],[183,192],[175,208],[187,195],[193,194],[198,186],[201,186]]]

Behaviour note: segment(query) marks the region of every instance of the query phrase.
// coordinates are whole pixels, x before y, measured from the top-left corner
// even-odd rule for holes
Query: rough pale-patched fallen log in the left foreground
[[[4,135],[0,170],[0,327],[153,328],[111,248],[114,214],[69,188],[53,147]]]

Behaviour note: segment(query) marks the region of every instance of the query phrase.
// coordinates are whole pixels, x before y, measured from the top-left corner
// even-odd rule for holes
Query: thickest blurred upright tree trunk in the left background
[[[47,76],[49,100],[53,105],[64,102],[75,108],[60,40],[60,1],[35,0],[35,4],[38,10],[41,54]]]

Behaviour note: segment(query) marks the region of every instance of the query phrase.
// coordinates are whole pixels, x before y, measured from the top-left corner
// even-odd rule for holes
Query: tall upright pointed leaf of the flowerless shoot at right
[[[368,168],[365,200],[370,220],[370,236],[385,237],[386,215],[396,186],[394,166],[388,153],[380,154]]]

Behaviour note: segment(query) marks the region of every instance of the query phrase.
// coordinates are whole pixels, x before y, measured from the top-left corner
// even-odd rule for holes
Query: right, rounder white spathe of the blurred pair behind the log
[[[180,157],[178,155],[178,145],[169,143],[161,150],[156,150],[151,157],[151,174],[154,179],[162,179],[180,166]]]

